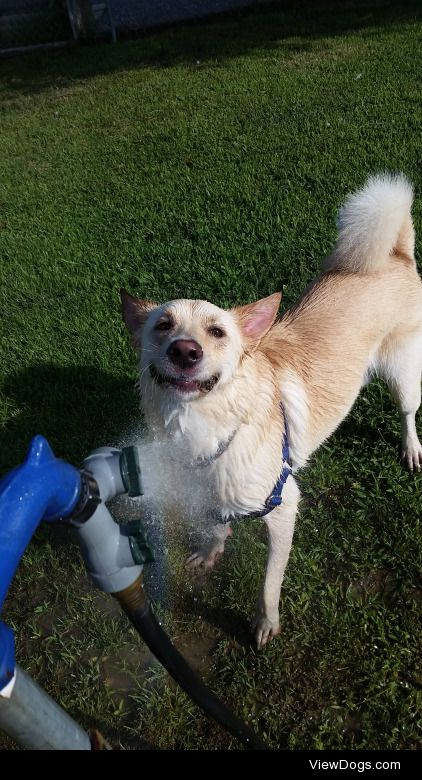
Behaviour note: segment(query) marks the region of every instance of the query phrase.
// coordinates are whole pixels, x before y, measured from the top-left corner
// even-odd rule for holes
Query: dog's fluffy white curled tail
[[[371,176],[338,214],[338,238],[325,271],[377,273],[392,256],[414,260],[413,188],[402,174]]]

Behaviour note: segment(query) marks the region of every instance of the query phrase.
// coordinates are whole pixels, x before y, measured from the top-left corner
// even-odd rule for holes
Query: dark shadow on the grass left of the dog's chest
[[[0,473],[22,462],[37,433],[57,457],[78,465],[140,419],[134,383],[94,366],[32,366],[9,377],[3,392],[20,412],[1,430]]]

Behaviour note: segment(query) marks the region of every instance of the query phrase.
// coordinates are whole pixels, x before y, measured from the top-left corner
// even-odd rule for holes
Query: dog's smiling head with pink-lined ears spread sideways
[[[208,301],[157,305],[122,291],[123,317],[140,357],[141,387],[194,401],[230,382],[277,315],[281,294],[226,311]],[[149,395],[149,393],[148,393]]]

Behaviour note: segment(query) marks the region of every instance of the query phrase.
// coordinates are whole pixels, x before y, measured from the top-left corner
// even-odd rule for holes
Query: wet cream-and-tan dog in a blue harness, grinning
[[[373,176],[349,195],[332,254],[278,320],[280,293],[223,310],[202,300],[157,305],[122,291],[141,405],[163,445],[162,491],[169,507],[213,524],[188,566],[213,566],[233,519],[264,518],[269,549],[253,619],[258,648],[280,631],[280,589],[300,498],[294,474],[371,376],[384,378],[397,403],[405,464],[421,468],[415,414],[422,283],[412,200],[401,174]]]

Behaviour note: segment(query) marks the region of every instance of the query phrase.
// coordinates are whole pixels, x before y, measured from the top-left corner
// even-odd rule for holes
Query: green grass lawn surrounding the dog
[[[79,463],[138,424],[120,287],[223,306],[282,289],[287,306],[346,193],[385,169],[415,184],[420,253],[418,5],[286,2],[0,63],[0,473],[37,432]],[[164,624],[274,748],[419,744],[422,477],[398,445],[375,383],[300,476],[282,634],[260,653],[262,522],[206,580],[184,573],[183,533],[161,543]],[[21,666],[114,744],[237,747],[139,649],[65,530],[40,528],[5,619]]]

